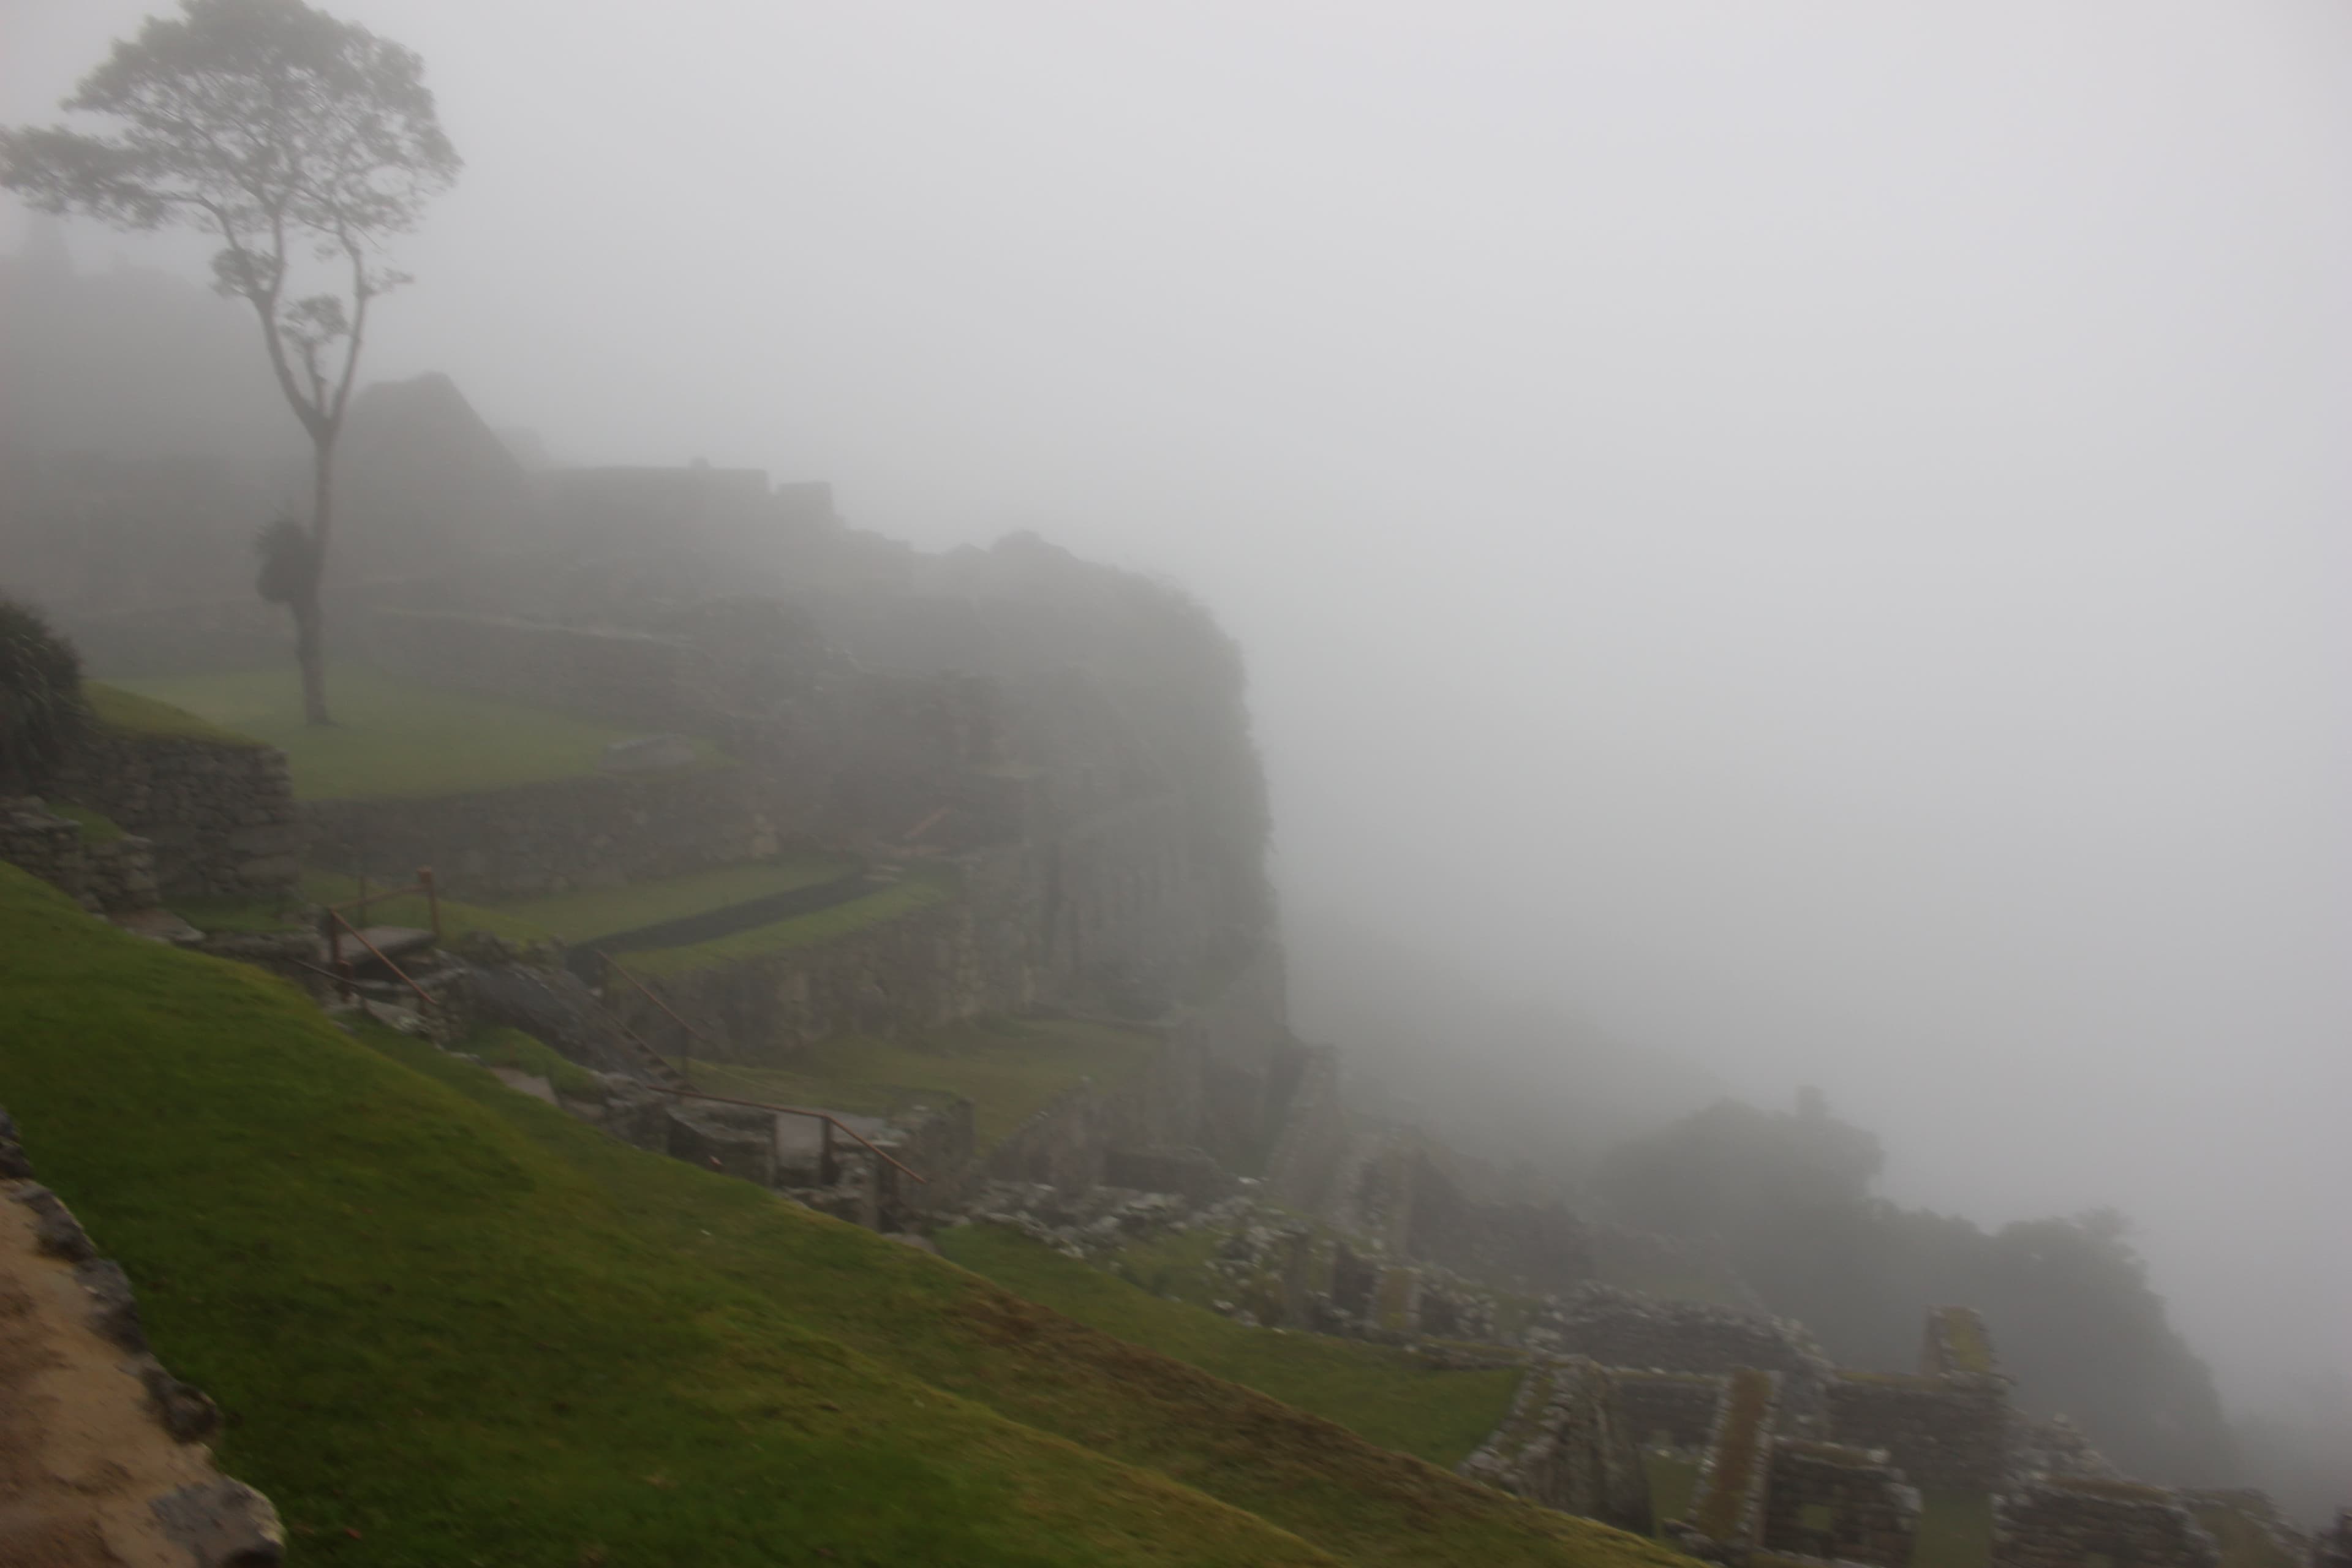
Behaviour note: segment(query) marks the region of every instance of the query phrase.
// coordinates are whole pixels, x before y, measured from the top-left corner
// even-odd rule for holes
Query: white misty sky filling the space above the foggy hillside
[[[1287,896],[2352,1368],[2343,5],[332,9],[470,165],[376,374],[1181,578]]]

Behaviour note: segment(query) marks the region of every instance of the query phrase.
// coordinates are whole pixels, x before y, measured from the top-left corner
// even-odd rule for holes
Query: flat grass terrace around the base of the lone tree
[[[301,682],[292,665],[125,686],[136,698],[153,698],[146,708],[172,703],[207,729],[230,726],[285,750],[301,799],[463,795],[579,778],[597,771],[609,743],[635,733],[358,665],[327,670],[334,724],[322,729],[301,722]],[[706,766],[722,759],[703,741],[696,748]]]

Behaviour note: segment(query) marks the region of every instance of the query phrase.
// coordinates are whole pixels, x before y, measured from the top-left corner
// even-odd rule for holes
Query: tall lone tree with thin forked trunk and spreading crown
[[[301,548],[280,531],[263,595],[294,614],[303,719],[327,724],[320,581],[334,440],[360,369],[367,310],[407,282],[383,242],[416,226],[459,155],[414,49],[301,0],[181,0],[115,42],[64,108],[113,115],[113,134],[0,129],[0,183],[42,212],[120,228],[195,228],[221,240],[214,287],[261,322],[278,388],[313,454]],[[303,294],[294,273],[336,284]]]

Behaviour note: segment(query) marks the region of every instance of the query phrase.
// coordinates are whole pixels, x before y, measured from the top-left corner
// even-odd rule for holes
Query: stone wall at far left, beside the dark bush
[[[285,752],[259,741],[96,724],[59,771],[56,797],[148,839],[167,900],[287,898],[301,875],[294,780]]]

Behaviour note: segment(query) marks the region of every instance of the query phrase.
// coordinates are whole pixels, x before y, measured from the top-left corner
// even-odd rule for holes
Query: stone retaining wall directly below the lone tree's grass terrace
[[[306,856],[386,884],[430,865],[452,898],[647,882],[776,853],[741,766],[597,773],[428,799],[301,804]]]

